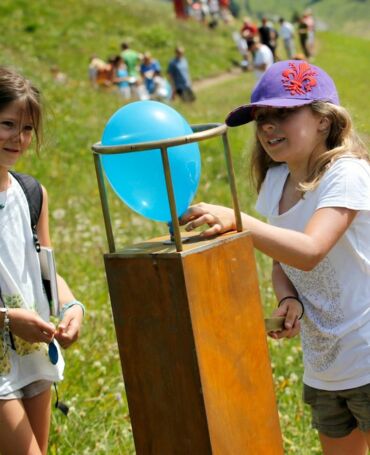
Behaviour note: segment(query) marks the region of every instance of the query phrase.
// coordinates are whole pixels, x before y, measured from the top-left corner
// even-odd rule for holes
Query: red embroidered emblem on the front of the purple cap
[[[290,69],[284,70],[282,83],[285,90],[291,95],[304,95],[310,92],[312,87],[317,85],[317,72],[306,62],[300,63],[298,66],[294,63],[289,63]]]

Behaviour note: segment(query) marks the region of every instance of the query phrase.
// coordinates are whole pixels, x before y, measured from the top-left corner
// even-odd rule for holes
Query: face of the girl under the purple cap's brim
[[[306,165],[313,153],[325,149],[325,140],[319,134],[321,118],[310,106],[257,108],[254,119],[262,147],[276,162]]]

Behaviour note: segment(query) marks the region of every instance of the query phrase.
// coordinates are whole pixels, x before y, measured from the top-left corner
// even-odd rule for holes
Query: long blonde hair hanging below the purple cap
[[[343,155],[351,155],[370,163],[365,144],[355,133],[349,113],[342,106],[336,106],[324,101],[314,101],[310,104],[314,114],[327,117],[330,121],[326,137],[326,152],[322,153],[315,162],[310,163],[311,171],[305,182],[301,182],[299,190],[302,193],[314,190],[330,165]],[[281,163],[273,161],[265,152],[256,136],[256,143],[251,156],[251,177],[259,192],[267,170]]]

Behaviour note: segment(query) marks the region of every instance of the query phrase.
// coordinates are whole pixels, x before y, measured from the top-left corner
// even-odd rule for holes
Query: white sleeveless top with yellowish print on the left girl
[[[10,174],[9,174],[10,175]],[[8,308],[37,312],[45,321],[50,311],[41,280],[26,196],[17,180],[0,192],[0,286]],[[11,324],[11,322],[10,322]],[[7,395],[37,380],[63,379],[64,360],[58,343],[59,359],[53,365],[46,343],[28,343],[13,334],[16,350],[7,347],[0,331],[0,395]]]

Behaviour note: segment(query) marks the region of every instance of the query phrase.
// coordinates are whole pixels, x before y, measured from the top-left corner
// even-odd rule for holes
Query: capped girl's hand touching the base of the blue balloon
[[[235,230],[235,215],[234,211],[228,207],[201,202],[189,207],[181,217],[180,224],[186,224],[185,229],[187,231],[192,231],[199,226],[208,224],[209,229],[206,229],[200,235],[211,237],[212,235]]]

